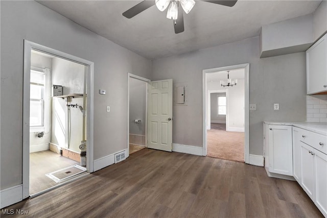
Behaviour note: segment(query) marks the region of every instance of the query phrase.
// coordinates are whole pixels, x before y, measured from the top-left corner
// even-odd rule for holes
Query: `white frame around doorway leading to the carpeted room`
[[[249,144],[250,144],[250,137],[249,137],[249,74],[250,74],[250,64],[237,64],[232,66],[224,66],[224,67],[217,67],[212,69],[204,69],[202,70],[202,155],[206,156],[207,152],[207,144],[206,144],[206,127],[207,127],[207,83],[206,83],[206,76],[207,74],[211,74],[213,72],[222,71],[222,70],[232,70],[232,69],[239,69],[244,68],[245,69],[245,84],[244,84],[244,94],[245,94],[245,148],[244,148],[244,160],[245,163],[249,163]]]

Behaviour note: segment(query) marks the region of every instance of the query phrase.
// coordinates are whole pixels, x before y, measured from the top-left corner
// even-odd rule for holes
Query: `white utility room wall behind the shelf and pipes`
[[[53,58],[52,84],[63,86],[63,94],[83,93],[84,65],[62,58]],[[68,148],[68,111],[65,99],[52,98],[52,137],[51,142],[62,148]],[[72,99],[71,105],[83,107],[83,98]],[[80,109],[71,107],[71,140],[69,149],[80,152],[83,139],[83,114]]]

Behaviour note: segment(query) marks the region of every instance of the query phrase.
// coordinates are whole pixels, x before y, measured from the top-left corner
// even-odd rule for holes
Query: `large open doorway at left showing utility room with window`
[[[25,41],[23,198],[92,172],[91,71],[91,62]]]

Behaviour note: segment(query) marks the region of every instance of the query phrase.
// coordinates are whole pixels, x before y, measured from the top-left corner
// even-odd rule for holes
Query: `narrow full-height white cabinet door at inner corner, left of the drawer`
[[[299,129],[293,127],[293,177],[300,183],[301,181],[301,143]]]

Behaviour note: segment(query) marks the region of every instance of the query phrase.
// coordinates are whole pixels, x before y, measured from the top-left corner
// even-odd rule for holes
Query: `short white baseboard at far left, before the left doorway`
[[[1,208],[22,201],[22,184],[1,190]]]

